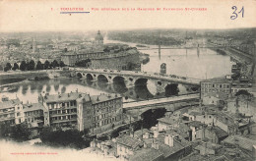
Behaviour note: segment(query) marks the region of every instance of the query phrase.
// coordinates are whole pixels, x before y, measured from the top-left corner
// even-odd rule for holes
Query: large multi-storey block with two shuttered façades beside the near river
[[[89,129],[92,134],[100,134],[122,124],[122,97],[118,94],[71,92],[45,94],[38,99],[45,108],[46,126]]]

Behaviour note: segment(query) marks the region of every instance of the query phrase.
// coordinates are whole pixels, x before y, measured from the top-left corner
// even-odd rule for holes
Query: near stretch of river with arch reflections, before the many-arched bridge
[[[78,78],[32,80],[16,84],[17,91],[4,92],[1,95],[8,95],[10,99],[14,99],[17,96],[24,102],[29,101],[32,103],[37,102],[37,98],[41,93],[57,94],[71,91],[76,92],[77,90],[90,93],[91,95],[117,92],[124,97],[124,101],[145,100],[164,96],[165,93],[157,91],[154,82],[148,81],[148,83],[126,87],[124,81],[107,83],[105,81],[80,80]]]

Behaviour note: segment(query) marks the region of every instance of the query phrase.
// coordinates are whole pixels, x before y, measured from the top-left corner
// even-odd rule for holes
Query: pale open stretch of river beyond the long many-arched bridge
[[[106,40],[106,43],[125,43],[136,47],[138,43]],[[158,48],[157,45],[146,45],[149,48]],[[161,46],[167,48],[170,46]],[[212,79],[231,74],[231,66],[234,64],[227,55],[219,55],[216,51],[200,48],[194,49],[159,49],[140,50],[145,47],[137,47],[140,52],[150,55],[150,62],[142,64],[143,72],[160,73],[160,65],[166,64],[166,74],[177,75],[195,79]],[[147,49],[147,48],[146,48]]]

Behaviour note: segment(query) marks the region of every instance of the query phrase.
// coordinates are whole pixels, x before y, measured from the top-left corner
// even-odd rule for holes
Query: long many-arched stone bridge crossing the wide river
[[[187,88],[198,88],[200,84],[200,80],[157,73],[81,68],[71,68],[70,70],[74,71],[74,75],[81,79],[105,80],[108,83],[123,81],[128,88],[138,84],[147,84],[148,80],[152,80],[160,93],[165,92],[171,84],[181,83]]]

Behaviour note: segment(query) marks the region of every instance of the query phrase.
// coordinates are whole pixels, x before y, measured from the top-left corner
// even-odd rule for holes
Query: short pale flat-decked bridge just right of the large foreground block
[[[165,108],[167,111],[175,111],[184,107],[198,105],[199,93],[196,93],[146,101],[127,102],[123,104],[123,110],[134,118],[140,118],[148,110]]]

